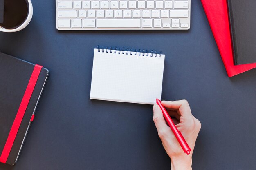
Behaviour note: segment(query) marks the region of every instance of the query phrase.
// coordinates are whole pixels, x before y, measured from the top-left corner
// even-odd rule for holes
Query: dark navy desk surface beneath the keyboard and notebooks
[[[0,33],[0,51],[50,77],[18,163],[0,170],[170,169],[152,106],[89,99],[98,44],[166,54],[162,99],[187,99],[202,123],[193,169],[255,170],[256,69],[227,77],[200,0],[189,31],[58,31],[55,1],[32,3],[31,23]]]

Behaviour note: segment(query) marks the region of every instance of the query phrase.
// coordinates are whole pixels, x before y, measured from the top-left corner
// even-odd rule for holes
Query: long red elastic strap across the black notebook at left
[[[29,100],[31,98],[31,95],[34,91],[34,88],[36,86],[37,79],[39,77],[40,71],[43,66],[35,65],[34,70],[32,72],[32,75],[29,79],[29,83],[27,85],[26,91],[24,93],[24,96],[21,100],[20,107],[18,109],[17,115],[13,121],[13,124],[11,126],[11,130],[9,132],[7,141],[4,145],[4,149],[2,151],[0,162],[6,163],[7,158],[9,157],[9,154],[11,152],[11,148],[13,146],[13,142],[16,138],[16,135],[18,133],[18,130],[20,128],[21,121],[23,119],[23,116],[25,114],[25,111],[27,109],[27,105],[29,104]]]

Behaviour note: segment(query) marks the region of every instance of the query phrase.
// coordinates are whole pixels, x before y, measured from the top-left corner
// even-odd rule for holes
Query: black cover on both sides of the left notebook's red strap
[[[7,141],[21,100],[34,70],[34,64],[0,53],[0,155]],[[24,117],[14,140],[7,164],[13,165],[18,159],[23,140],[31,123],[49,71],[42,68],[36,86],[29,100]]]

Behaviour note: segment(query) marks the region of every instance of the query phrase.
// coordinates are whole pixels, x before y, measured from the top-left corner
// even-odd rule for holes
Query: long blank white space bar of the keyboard
[[[140,19],[97,19],[98,28],[140,28]]]

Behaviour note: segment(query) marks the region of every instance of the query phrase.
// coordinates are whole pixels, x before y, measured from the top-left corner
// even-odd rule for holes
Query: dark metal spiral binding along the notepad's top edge
[[[125,50],[125,48],[123,47],[123,49],[121,50],[121,48],[120,47],[118,47],[118,49],[117,49],[117,47],[115,46],[115,48],[113,48],[112,46],[110,46],[110,50],[109,50],[109,48],[108,48],[108,46],[106,46],[106,48],[104,48],[104,46],[101,46],[101,48],[100,48],[100,46],[98,45],[97,46],[97,48],[98,48],[98,52],[102,52],[102,53],[105,53],[105,50],[106,50],[106,53],[108,53],[109,51],[110,51],[110,53],[119,53],[119,54],[121,54],[121,51],[122,51],[122,54],[125,54],[125,51],[126,51],[126,55],[128,55],[129,54],[129,52],[130,52],[130,55],[132,55],[133,53],[134,53],[134,55],[141,55],[141,49],[129,49],[129,48],[126,48],[126,50]],[[157,53],[157,51],[155,50],[155,53],[153,53],[153,50],[150,50],[150,52],[149,52],[149,50],[147,49],[146,50],[146,52],[145,52],[145,50],[144,49],[142,49],[142,56],[145,56],[145,53],[146,53],[146,56],[148,57],[149,56],[149,54],[150,54],[150,57],[153,57],[153,55],[154,55],[154,57],[157,57],[157,55],[158,55],[158,57],[161,57],[161,54],[162,54],[162,52],[161,51],[159,51],[159,53]]]

